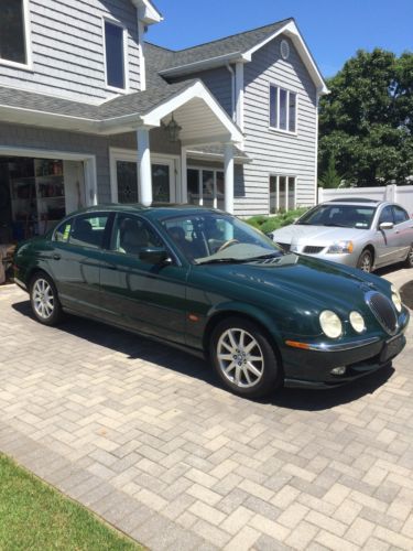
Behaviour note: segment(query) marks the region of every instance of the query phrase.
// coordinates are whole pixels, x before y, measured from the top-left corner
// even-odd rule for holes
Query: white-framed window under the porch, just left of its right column
[[[215,169],[187,170],[188,203],[224,208],[224,172]]]

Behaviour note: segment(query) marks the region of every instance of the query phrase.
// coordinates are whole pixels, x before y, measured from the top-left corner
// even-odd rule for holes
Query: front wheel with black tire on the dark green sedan
[[[278,354],[265,332],[242,317],[219,322],[210,336],[211,364],[224,385],[244,398],[261,398],[283,382]]]

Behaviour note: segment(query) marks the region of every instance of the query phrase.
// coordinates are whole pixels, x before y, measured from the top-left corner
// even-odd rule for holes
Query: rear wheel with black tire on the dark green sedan
[[[30,302],[37,322],[57,325],[63,317],[56,285],[45,272],[36,272],[30,282]]]

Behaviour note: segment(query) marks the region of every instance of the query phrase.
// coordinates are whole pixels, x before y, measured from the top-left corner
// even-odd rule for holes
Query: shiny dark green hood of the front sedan
[[[365,307],[365,294],[371,290],[389,293],[390,284],[377,276],[365,273],[336,262],[318,260],[305,255],[289,253],[279,259],[249,263],[202,267],[208,279],[219,279],[228,294],[243,299],[250,292],[253,302],[291,299],[319,307],[349,303]]]

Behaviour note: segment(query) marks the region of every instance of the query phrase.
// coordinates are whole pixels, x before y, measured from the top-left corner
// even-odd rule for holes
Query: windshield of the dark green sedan
[[[248,262],[281,257],[282,249],[258,229],[224,213],[195,213],[161,220],[194,264]]]

